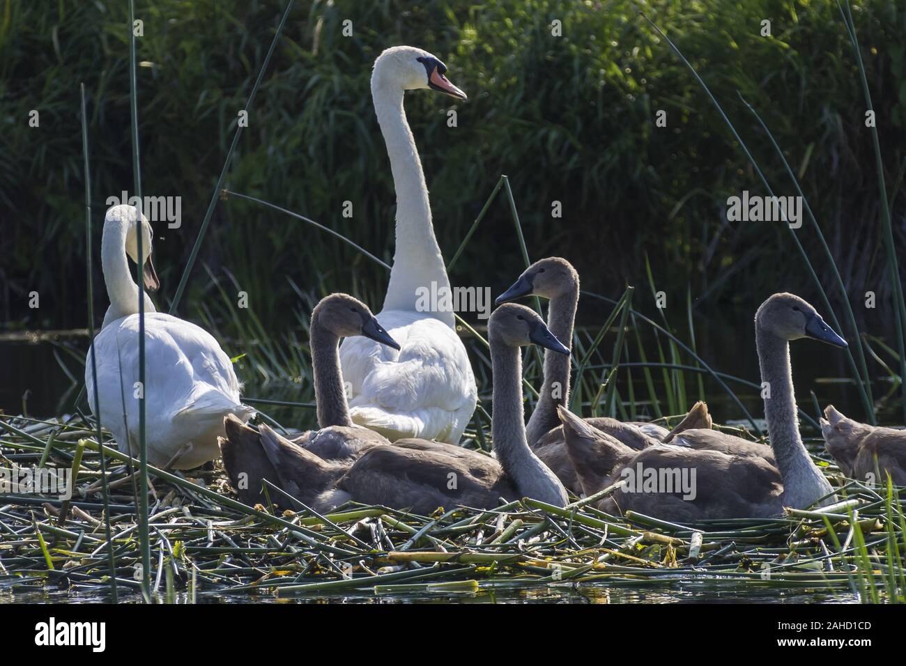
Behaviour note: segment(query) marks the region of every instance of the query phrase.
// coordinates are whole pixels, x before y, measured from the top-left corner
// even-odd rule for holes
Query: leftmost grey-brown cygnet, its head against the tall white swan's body
[[[378,433],[352,423],[337,350],[341,337],[355,335],[390,346],[396,343],[368,306],[347,294],[331,294],[315,306],[310,334],[319,430],[305,432],[291,442],[265,425],[259,431],[238,420],[225,420],[221,455],[246,504],[261,501],[261,481],[266,478],[309,505],[333,487],[362,451],[389,443]],[[280,507],[298,508],[284,497],[271,499]]]

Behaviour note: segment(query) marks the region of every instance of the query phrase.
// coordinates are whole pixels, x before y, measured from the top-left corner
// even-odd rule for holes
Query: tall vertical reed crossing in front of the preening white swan
[[[135,0],[129,0],[129,100],[130,128],[132,138],[132,179],[135,196],[139,198],[138,220],[136,223],[136,244],[139,261],[136,266],[136,284],[139,286],[139,540],[141,543],[141,589],[145,601],[150,601],[151,592],[151,549],[148,533],[148,446],[145,440],[145,281],[142,275],[144,267],[144,228],[142,220],[144,211],[141,202],[141,160],[139,154],[139,91],[136,77],[135,58]],[[150,250],[150,248],[149,248]],[[127,412],[123,411],[123,416]],[[128,429],[126,430],[129,431]]]

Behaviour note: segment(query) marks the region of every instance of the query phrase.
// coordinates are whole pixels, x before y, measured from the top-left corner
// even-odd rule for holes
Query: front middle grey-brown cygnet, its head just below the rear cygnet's
[[[337,494],[333,501],[351,498],[420,514],[457,505],[495,507],[501,498],[519,497],[565,506],[565,488],[525,441],[519,347],[537,343],[568,351],[541,318],[522,305],[497,308],[487,331],[494,380],[491,430],[496,459],[434,441],[398,440],[359,458],[337,483],[342,495]]]

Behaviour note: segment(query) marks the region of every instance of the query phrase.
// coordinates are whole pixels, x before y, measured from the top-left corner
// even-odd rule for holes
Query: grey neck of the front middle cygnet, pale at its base
[[[501,467],[522,497],[564,507],[566,490],[525,441],[525,411],[522,405],[522,359],[519,348],[511,347],[491,333],[491,364],[494,371],[494,413],[491,434]]]

